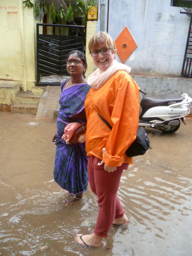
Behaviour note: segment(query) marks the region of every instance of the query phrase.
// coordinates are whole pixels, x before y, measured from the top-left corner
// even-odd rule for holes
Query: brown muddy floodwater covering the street
[[[174,134],[148,129],[152,150],[123,172],[118,196],[128,229],[112,227],[102,248],[74,242],[92,233],[97,200],[64,207],[53,181],[56,124],[0,112],[0,255],[191,256],[192,119]]]

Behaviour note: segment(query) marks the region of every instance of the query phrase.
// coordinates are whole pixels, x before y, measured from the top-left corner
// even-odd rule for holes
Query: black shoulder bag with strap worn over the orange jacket
[[[104,123],[112,130],[112,126],[103,118],[99,113],[98,115],[104,121]],[[150,147],[149,137],[146,133],[146,130],[143,127],[138,127],[136,139],[126,150],[126,155],[128,157],[134,157],[139,155],[144,155]]]

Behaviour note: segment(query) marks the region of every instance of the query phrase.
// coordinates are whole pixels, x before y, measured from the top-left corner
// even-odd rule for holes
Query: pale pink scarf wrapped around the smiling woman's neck
[[[131,71],[131,68],[117,62],[114,60],[109,67],[104,70],[100,71],[100,69],[96,69],[87,79],[88,85],[90,85],[93,89],[99,89],[104,83],[109,80],[118,70],[124,70],[128,74]]]

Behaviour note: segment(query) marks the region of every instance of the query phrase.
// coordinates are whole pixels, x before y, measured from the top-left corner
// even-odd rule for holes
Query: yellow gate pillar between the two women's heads
[[[89,40],[91,39],[91,37],[96,33],[96,25],[97,25],[97,21],[87,21],[87,31],[86,31],[86,49],[85,49],[85,55],[86,55],[86,59],[87,59],[87,70],[85,73],[86,78],[88,78],[88,76],[93,73],[94,71],[94,63],[93,63],[93,59],[91,57],[91,55],[89,54],[89,48],[88,48],[88,44],[89,44]]]

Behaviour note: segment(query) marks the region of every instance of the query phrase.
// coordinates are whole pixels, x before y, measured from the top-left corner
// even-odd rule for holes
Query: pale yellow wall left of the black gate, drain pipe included
[[[36,21],[33,8],[22,2],[0,0],[0,82],[12,80],[31,90],[35,85]]]

